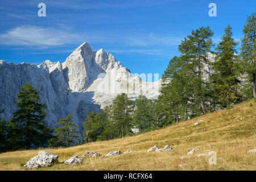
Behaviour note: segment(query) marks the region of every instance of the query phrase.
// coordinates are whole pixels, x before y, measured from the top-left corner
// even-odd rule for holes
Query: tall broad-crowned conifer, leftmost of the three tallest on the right
[[[179,51],[186,59],[187,71],[191,77],[193,98],[199,104],[203,114],[207,111],[205,102],[209,94],[209,83],[204,77],[207,73],[205,65],[210,63],[207,53],[214,45],[212,36],[213,32],[209,27],[200,27],[192,31],[191,35],[188,35],[179,45]]]

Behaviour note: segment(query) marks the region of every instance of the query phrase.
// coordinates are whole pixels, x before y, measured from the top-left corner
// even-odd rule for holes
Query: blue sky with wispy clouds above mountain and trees
[[[40,2],[46,4],[46,17],[38,16]],[[212,2],[217,17],[208,15]],[[255,0],[1,1],[0,60],[64,62],[88,42],[92,49],[112,53],[132,73],[162,75],[192,30],[210,26],[218,43],[230,24],[239,41],[246,15],[255,7]]]

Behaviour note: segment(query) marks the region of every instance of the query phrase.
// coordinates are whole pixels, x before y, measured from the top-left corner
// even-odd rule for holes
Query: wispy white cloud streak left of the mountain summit
[[[61,46],[78,39],[79,35],[71,32],[38,26],[15,27],[0,34],[0,44],[17,46]]]

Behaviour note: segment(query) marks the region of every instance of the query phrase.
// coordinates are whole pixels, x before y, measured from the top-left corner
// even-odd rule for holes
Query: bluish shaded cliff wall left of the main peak
[[[50,127],[58,118],[67,114],[63,95],[55,91],[55,83],[51,81],[48,69],[34,64],[13,64],[0,61],[0,108],[5,109],[4,117],[10,119],[16,111],[16,95],[25,82],[38,88],[42,103],[47,105],[46,121]]]

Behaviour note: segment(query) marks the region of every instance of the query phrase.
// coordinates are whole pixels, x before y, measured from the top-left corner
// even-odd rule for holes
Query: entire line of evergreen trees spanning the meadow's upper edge
[[[255,20],[255,13],[247,17],[240,55],[229,25],[216,52],[209,27],[192,31],[179,45],[181,56],[173,57],[164,71],[158,100],[141,95],[134,102],[119,94],[101,113],[86,113],[83,137],[72,114],[59,119],[56,129],[48,129],[46,105],[40,103],[36,88],[24,84],[17,95],[19,109],[9,122],[1,119],[0,152],[122,138],[133,135],[133,129],[144,133],[255,98]]]

